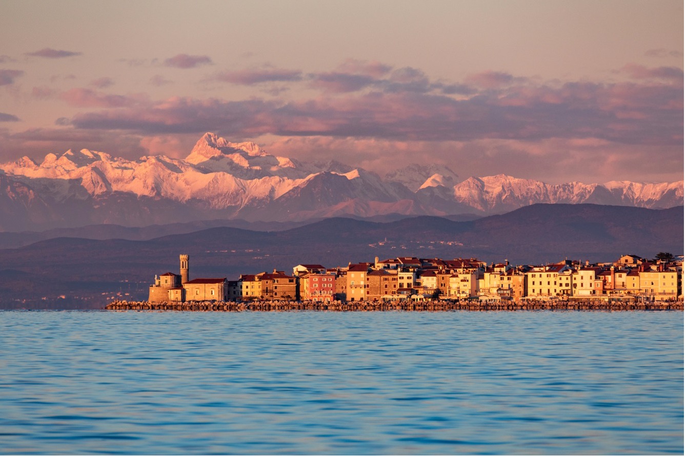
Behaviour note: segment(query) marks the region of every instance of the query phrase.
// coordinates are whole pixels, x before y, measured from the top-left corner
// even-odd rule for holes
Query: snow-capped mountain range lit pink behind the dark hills
[[[453,169],[456,167],[453,167]],[[383,214],[499,214],[534,203],[683,205],[683,181],[546,184],[507,175],[469,177],[435,164],[379,177],[340,162],[303,163],[255,143],[207,133],[185,160],[49,153],[0,164],[0,231],[91,224],[142,227],[212,219],[307,221]]]

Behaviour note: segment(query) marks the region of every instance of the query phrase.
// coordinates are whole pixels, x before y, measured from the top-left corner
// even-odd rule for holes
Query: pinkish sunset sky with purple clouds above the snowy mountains
[[[0,0],[0,162],[276,156],[683,180],[683,1]]]

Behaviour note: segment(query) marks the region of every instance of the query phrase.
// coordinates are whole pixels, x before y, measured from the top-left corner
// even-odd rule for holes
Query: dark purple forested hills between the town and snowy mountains
[[[241,273],[288,272],[300,263],[345,266],[375,256],[507,258],[514,264],[652,258],[659,251],[683,254],[683,234],[683,206],[538,204],[475,221],[331,218],[280,232],[212,227],[143,241],[53,238],[0,250],[0,307],[98,308],[116,293],[145,299],[154,275],[176,271],[182,253],[191,256],[191,277],[234,280]]]

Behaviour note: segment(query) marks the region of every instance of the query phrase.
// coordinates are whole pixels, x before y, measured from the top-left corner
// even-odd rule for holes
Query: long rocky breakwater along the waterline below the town
[[[113,301],[113,311],[669,311],[684,309],[682,301]]]

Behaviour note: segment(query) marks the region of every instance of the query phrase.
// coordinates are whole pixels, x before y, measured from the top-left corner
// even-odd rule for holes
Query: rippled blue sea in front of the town
[[[683,312],[0,312],[0,454],[683,454]]]

